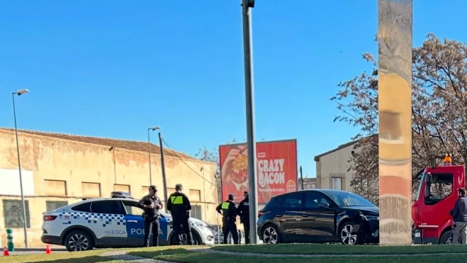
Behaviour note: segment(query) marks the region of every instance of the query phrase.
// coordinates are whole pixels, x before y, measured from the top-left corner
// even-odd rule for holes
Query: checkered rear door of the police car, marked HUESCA
[[[90,211],[91,213],[86,218],[86,225],[96,235],[96,245],[125,247],[127,244],[127,230],[120,201],[92,201]]]

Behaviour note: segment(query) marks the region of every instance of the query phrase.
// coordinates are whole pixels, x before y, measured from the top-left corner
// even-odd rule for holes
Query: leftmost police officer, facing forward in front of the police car
[[[150,237],[152,233],[152,245],[157,247],[159,245],[159,209],[162,209],[162,202],[157,197],[157,187],[150,186],[150,193],[140,200],[140,206],[145,211],[142,217],[145,219],[145,247],[150,246]]]

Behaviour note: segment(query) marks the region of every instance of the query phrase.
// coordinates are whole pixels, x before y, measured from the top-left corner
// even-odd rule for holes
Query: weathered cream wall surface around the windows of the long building
[[[45,201],[47,200],[74,203],[81,201],[86,192],[87,195],[109,197],[111,191],[114,191],[114,184],[130,186],[131,195],[135,198],[147,194],[145,186],[150,185],[147,152],[118,148],[115,152],[109,152],[108,146],[27,133],[19,133],[19,144],[21,167],[28,171],[25,174],[33,174],[32,177],[25,178],[23,181],[24,185],[33,185],[33,189],[30,189],[33,194],[30,191],[26,193],[29,194],[26,200],[29,201],[30,207],[30,228],[28,229],[30,247],[44,246],[40,242],[40,236],[42,235],[42,213],[46,210]],[[115,166],[113,153],[115,153]],[[158,186],[159,197],[164,198],[159,155],[152,155],[151,161],[152,183]],[[189,194],[189,189],[200,191],[201,200],[195,201],[192,198],[192,203],[201,206],[203,220],[216,224],[218,220],[215,216],[215,206],[217,206],[218,196],[214,177],[215,164],[197,160],[184,160],[184,162],[177,157],[165,157],[167,186],[174,187],[175,184],[181,183],[184,184],[186,194]],[[0,192],[0,199],[19,199],[20,193],[14,183],[16,180],[19,181],[17,172],[14,172],[18,169],[16,141],[10,130],[0,130],[0,169],[0,172],[3,171],[4,174],[9,173],[11,177],[9,181],[11,180],[11,185],[16,191],[16,194],[11,191]],[[198,176],[192,169],[201,176]],[[202,177],[205,177],[206,181]],[[60,181],[65,181],[65,183]],[[86,189],[86,185],[83,189],[83,182],[98,183],[98,191],[94,191],[95,189],[89,186]],[[7,182],[4,181],[5,183]],[[62,189],[64,184],[66,184],[66,189]],[[3,201],[0,201],[0,236],[2,244],[6,244],[3,211]],[[14,229],[13,233],[16,247],[23,247],[23,228]]]

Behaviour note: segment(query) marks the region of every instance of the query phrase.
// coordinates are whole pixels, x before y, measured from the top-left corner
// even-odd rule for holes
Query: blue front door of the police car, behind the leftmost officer
[[[142,218],[144,212],[137,201],[122,201],[125,208],[126,230],[128,233],[128,247],[142,247],[145,237],[145,220]],[[152,238],[151,238],[152,242]]]

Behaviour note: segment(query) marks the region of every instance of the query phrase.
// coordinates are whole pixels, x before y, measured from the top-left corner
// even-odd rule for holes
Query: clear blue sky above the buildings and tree
[[[133,4],[132,4],[133,3]],[[257,0],[257,140],[298,139],[298,162],[348,142],[333,123],[337,83],[376,52],[376,1]],[[466,41],[467,1],[416,0],[414,45],[429,32]],[[193,155],[246,138],[238,1],[0,1],[0,126],[147,140],[162,126]],[[154,142],[157,136],[154,133]]]

